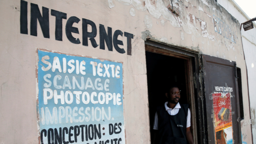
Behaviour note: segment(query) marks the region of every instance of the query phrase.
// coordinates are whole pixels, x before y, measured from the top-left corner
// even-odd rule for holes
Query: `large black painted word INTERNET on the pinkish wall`
[[[50,38],[50,23],[49,21],[49,9],[47,7],[42,7],[42,14],[39,10],[37,4],[30,3],[30,25],[27,23],[28,19],[28,2],[25,0],[21,0],[21,15],[20,15],[20,32],[22,34],[28,34],[28,26],[30,26],[30,35],[37,36],[37,21],[40,24],[43,37]],[[63,19],[67,19],[67,13],[61,11],[51,10],[51,16],[55,17],[55,40],[62,41],[62,33],[63,33]],[[74,23],[79,23],[79,27],[82,27],[82,32],[79,32],[77,27],[73,27]],[[88,27],[91,27],[91,30],[88,30]],[[113,51],[113,47],[116,49],[118,53],[127,53],[128,55],[132,55],[132,39],[133,34],[128,32],[122,32],[121,30],[115,30],[112,35],[112,28],[107,27],[107,32],[104,25],[100,24],[99,29],[99,44],[96,42],[97,36],[97,27],[96,24],[88,19],[82,18],[80,22],[80,18],[76,16],[70,16],[67,19],[65,25],[65,34],[68,38],[69,42],[80,44],[82,41],[82,45],[88,46],[89,40],[91,42],[91,46],[96,48],[100,45],[100,49],[105,49],[105,43],[107,45],[108,51]],[[82,33],[82,37],[73,37],[72,33]],[[121,39],[117,39],[120,36]],[[126,37],[127,50],[124,48],[120,48],[119,46],[123,46],[123,36]]]

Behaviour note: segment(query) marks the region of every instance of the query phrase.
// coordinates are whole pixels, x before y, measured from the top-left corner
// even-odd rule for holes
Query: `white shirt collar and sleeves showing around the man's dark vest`
[[[165,110],[171,116],[176,115],[179,112],[180,108],[181,108],[180,103],[178,102],[173,109],[168,107],[167,103],[168,103],[168,101],[165,102]],[[190,124],[190,117],[191,117],[190,116],[190,110],[188,108],[188,111],[187,111],[187,128],[191,126],[191,124]],[[155,122],[154,122],[153,129],[158,130],[158,116],[157,116],[157,112],[155,112]]]

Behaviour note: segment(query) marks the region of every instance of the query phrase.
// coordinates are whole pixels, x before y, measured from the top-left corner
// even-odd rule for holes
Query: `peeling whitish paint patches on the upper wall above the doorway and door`
[[[112,0],[109,0],[109,1],[112,1]],[[194,10],[197,9],[197,11],[203,11],[205,16],[211,18],[212,16],[208,15],[203,10],[203,8],[205,7],[203,7],[202,5],[194,6],[192,5],[192,3],[188,2],[188,6],[186,6],[184,5],[184,3],[178,0],[172,1],[172,5],[170,0],[117,0],[117,1],[122,3],[123,5],[133,4],[134,8],[139,11],[148,10],[150,15],[144,16],[144,24],[149,29],[153,28],[153,22],[150,16],[153,16],[154,18],[157,18],[157,19],[159,19],[162,16],[164,19],[168,20],[173,27],[182,27],[183,32],[187,34],[193,34],[197,38],[203,36],[208,38],[211,41],[216,40],[213,34],[208,33],[207,23],[204,20],[198,19],[196,16],[192,14],[187,14],[188,11],[183,10],[183,8],[185,7],[186,7],[186,10],[189,10],[189,11],[191,9],[194,9]],[[209,1],[207,0],[201,0],[201,1],[203,2],[204,5],[212,9],[211,13],[214,13],[217,10],[216,7],[213,7],[212,5],[210,5]],[[173,14],[171,10],[168,10],[168,8],[171,8],[171,10],[175,10],[179,14],[179,16],[176,16],[175,14]],[[217,11],[217,12],[218,12],[218,15],[221,16],[220,11]],[[135,10],[133,8],[130,9],[130,15],[135,16]],[[165,22],[166,22],[165,20],[161,20],[160,22],[162,26],[165,26]],[[159,24],[159,21],[156,21],[156,23]],[[222,32],[223,30],[220,27],[217,27],[217,25],[219,24],[219,21],[217,21],[216,16],[214,17],[214,15],[213,15],[213,24],[214,24],[215,32],[219,32],[221,35],[223,35],[223,32]],[[229,32],[232,33],[232,30],[229,30]],[[230,39],[231,41],[235,41],[235,35],[231,33],[230,33],[231,35]],[[159,39],[159,41],[161,40]]]

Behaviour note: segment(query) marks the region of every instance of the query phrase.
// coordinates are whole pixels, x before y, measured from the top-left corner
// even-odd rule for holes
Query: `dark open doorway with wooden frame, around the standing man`
[[[155,45],[156,44],[156,45]],[[153,142],[153,125],[156,107],[164,105],[166,89],[171,85],[177,85],[181,90],[181,104],[189,104],[191,111],[191,131],[195,144],[197,141],[197,121],[196,117],[196,89],[193,83],[193,73],[195,73],[195,58],[186,51],[171,48],[155,42],[147,42],[146,64],[149,97],[149,122],[151,143]],[[165,47],[165,48],[163,48]],[[166,49],[168,48],[168,49]],[[170,49],[169,49],[170,48]],[[192,54],[193,55],[193,54]]]

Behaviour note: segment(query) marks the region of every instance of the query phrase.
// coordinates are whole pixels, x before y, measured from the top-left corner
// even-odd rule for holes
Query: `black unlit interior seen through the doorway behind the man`
[[[186,62],[184,59],[146,51],[151,140],[156,107],[167,101],[166,89],[170,85],[177,85],[181,90],[180,103],[187,103]]]

